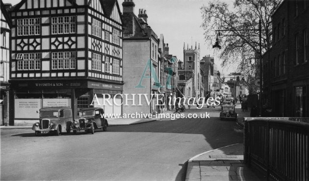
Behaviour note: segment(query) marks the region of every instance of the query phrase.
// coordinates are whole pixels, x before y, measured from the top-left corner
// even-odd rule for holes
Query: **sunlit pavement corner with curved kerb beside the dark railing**
[[[243,163],[243,144],[199,154],[188,161],[185,181],[264,181],[266,177]]]

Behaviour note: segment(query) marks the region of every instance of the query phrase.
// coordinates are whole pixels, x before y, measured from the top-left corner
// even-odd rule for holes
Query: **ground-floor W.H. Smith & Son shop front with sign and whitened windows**
[[[98,94],[98,97],[109,94],[112,97],[122,93],[122,85],[89,80],[14,80],[11,83],[13,125],[31,125],[36,122],[42,107],[71,107],[76,119],[77,110],[91,107],[94,94]],[[121,113],[121,106],[103,108],[108,113]]]

